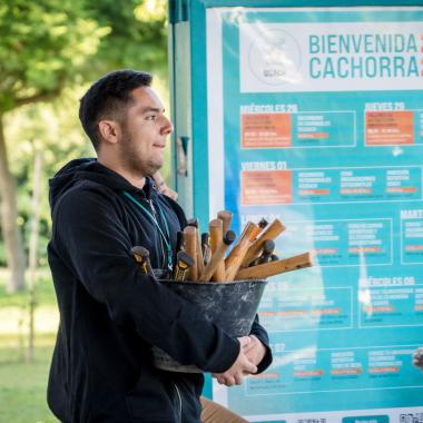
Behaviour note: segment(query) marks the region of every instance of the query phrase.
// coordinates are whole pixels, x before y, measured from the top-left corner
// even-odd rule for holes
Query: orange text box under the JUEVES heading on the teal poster
[[[414,142],[413,112],[367,111],[366,112],[366,145],[392,146]]]

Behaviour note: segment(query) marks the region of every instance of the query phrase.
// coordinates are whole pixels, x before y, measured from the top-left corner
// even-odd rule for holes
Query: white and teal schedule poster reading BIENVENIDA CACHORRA
[[[423,421],[423,8],[207,11],[210,216],[277,217],[252,422]]]

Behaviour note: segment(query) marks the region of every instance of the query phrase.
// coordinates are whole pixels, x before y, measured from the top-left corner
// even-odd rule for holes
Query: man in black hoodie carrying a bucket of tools
[[[227,386],[272,362],[257,319],[250,336],[233,338],[131,258],[140,245],[154,268],[168,268],[186,225],[148,177],[163,166],[173,131],[150,82],[149,73],[130,70],[95,82],[79,116],[97,159],[73,160],[50,180],[48,255],[60,326],[48,403],[61,422],[206,421],[203,375],[155,368],[151,345]]]

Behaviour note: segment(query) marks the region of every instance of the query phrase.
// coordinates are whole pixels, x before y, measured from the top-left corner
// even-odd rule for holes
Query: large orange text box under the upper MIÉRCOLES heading
[[[289,147],[292,140],[289,114],[244,114],[240,116],[242,148]]]

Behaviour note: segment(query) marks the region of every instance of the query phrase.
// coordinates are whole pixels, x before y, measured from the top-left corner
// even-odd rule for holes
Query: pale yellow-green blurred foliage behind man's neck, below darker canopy
[[[94,149],[83,136],[78,119],[78,99],[85,87],[65,88],[60,97],[49,104],[30,104],[13,110],[6,118],[10,170],[17,180],[19,205],[18,226],[28,245],[31,220],[31,195],[33,154],[42,151],[42,197],[40,238],[38,245],[39,265],[46,265],[46,248],[51,229],[48,203],[48,178],[51,178],[66,163],[76,157],[92,157]],[[0,254],[0,266],[4,255]]]

